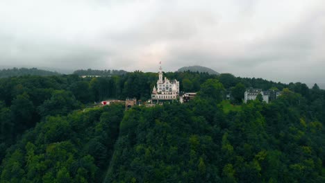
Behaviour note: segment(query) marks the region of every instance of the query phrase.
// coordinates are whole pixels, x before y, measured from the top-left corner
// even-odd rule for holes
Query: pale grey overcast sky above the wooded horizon
[[[324,0],[0,0],[0,66],[325,82]]]

